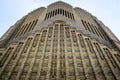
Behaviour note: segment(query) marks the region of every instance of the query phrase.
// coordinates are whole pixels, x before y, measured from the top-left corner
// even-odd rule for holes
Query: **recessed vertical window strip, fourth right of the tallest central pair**
[[[92,43],[91,43],[89,38],[85,38],[85,40],[86,40],[86,43],[87,43],[87,46],[88,46],[87,51],[89,53],[88,55],[89,55],[89,58],[90,58],[90,61],[91,61],[91,64],[92,64],[92,68],[93,68],[94,73],[95,73],[95,77],[98,80],[101,80],[101,79],[103,80],[103,79],[105,79],[104,73],[103,73],[103,70],[100,67],[100,64],[99,64],[98,60],[97,60],[97,57],[95,55],[95,51],[93,49]],[[97,65],[95,65],[95,64],[97,64]]]

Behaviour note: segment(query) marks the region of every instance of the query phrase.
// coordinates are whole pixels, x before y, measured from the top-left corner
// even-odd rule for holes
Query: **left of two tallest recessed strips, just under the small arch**
[[[58,24],[55,24],[53,32],[53,48],[52,48],[52,59],[51,59],[51,70],[50,79],[59,78],[59,60],[58,60]]]

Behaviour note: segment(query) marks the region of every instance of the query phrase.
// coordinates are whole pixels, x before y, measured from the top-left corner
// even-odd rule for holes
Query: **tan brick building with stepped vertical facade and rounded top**
[[[95,16],[58,1],[0,38],[0,80],[120,80],[120,41]]]

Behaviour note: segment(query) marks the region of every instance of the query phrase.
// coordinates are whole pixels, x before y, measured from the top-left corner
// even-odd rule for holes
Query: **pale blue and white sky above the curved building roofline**
[[[120,0],[1,0],[0,37],[24,15],[56,1],[80,7],[101,20],[120,40]]]

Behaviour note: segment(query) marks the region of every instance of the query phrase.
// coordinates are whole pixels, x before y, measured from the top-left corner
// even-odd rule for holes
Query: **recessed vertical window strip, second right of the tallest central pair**
[[[76,63],[76,70],[77,70],[77,79],[85,79],[85,72],[83,67],[83,62],[81,58],[81,52],[82,48],[79,45],[79,38],[77,37],[77,32],[72,33],[72,39],[73,39],[73,48],[74,48],[74,57],[75,57],[75,63]]]

